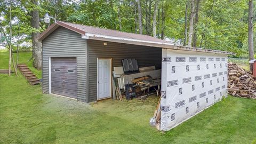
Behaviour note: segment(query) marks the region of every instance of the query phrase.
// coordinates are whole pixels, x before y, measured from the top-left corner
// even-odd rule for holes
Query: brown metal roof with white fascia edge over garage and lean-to
[[[176,46],[162,39],[158,39],[148,35],[126,33],[126,32],[117,31],[117,30],[97,28],[92,26],[84,26],[84,25],[79,25],[75,23],[63,22],[63,21],[57,21],[57,23],[54,23],[50,27],[48,27],[45,31],[43,31],[41,35],[37,37],[37,41],[43,41],[44,38],[50,35],[59,26],[73,30],[78,34],[85,36],[85,38],[96,39],[100,41],[127,43],[127,44],[135,44],[135,45],[146,45],[146,46],[162,47],[167,49],[183,50],[183,51],[235,54],[235,53],[226,52],[226,51],[201,49],[197,47]]]

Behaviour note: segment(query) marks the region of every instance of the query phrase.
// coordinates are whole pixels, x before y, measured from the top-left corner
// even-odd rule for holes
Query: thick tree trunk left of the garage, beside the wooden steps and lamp
[[[31,3],[38,5],[38,0],[31,0]],[[34,9],[31,11],[31,27],[39,29],[39,12]],[[39,36],[39,32],[32,33],[32,45],[33,45],[33,65],[36,69],[42,69],[42,45],[40,42],[36,42],[36,37]]]

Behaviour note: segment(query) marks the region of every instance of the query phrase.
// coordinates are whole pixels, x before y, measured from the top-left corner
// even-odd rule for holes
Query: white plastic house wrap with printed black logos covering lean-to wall
[[[162,49],[161,130],[227,97],[227,55]]]

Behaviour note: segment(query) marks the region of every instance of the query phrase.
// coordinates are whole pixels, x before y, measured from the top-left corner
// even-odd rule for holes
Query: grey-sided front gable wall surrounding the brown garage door
[[[49,57],[76,57],[77,100],[86,102],[86,40],[81,34],[59,27],[43,40],[43,92],[49,93]]]

